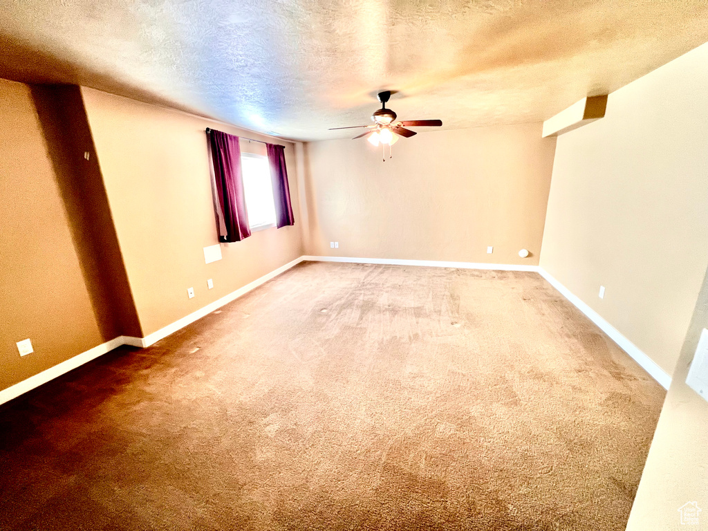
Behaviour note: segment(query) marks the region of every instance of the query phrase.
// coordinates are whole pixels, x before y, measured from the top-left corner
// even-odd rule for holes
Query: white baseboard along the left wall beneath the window
[[[136,338],[132,336],[118,336],[115,339],[111,339],[110,341],[106,341],[101,345],[86,350],[86,352],[75,355],[74,358],[69,358],[68,360],[62,361],[54,367],[50,367],[47,370],[43,370],[37,375],[31,376],[28,379],[24,379],[22,382],[18,382],[17,384],[14,384],[11,387],[8,387],[7,389],[2,389],[0,390],[0,404],[4,404],[6,401],[12,400],[13,398],[20,396],[23,393],[35,389],[35,387],[39,387],[40,385],[45,384],[50,380],[55,379],[56,377],[64,375],[70,370],[76,369],[76,367],[84,365],[84,363],[88,363],[91,360],[95,360],[96,358],[98,358],[98,356],[103,355],[109,352],[110,350],[113,350],[114,348],[118,348],[121,345],[148,347],[156,341],[159,341],[162,338],[169,336],[171,333],[176,332],[179,329],[187,326],[188,324],[193,323],[197,319],[200,319],[203,316],[210,314],[215,309],[224,306],[224,304],[228,304],[229,302],[232,302],[232,300],[241,297],[241,295],[244,295],[247,292],[253,290],[253,288],[258,287],[265,282],[268,282],[268,280],[270,280],[271,278],[280,275],[280,273],[283,273],[284,271],[292,268],[292,266],[297,265],[298,263],[302,262],[302,260],[302,256],[300,258],[295,258],[295,260],[293,260],[292,262],[286,263],[282,267],[271,271],[270,273],[268,273],[268,275],[263,275],[261,278],[253,280],[253,282],[246,284],[244,287],[240,287],[238,290],[229,293],[229,295],[226,295],[221,299],[212,302],[211,304],[207,304],[202,309],[198,309],[196,312],[193,312],[192,314],[189,314],[188,316],[185,316],[182,319],[179,319],[178,321],[175,321],[172,324],[165,326],[163,329],[149,334],[149,336],[147,337]]]

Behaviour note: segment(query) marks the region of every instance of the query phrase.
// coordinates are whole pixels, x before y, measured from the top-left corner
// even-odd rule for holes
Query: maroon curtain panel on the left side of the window
[[[207,129],[207,137],[214,169],[219,239],[241,241],[251,236],[251,229],[249,215],[246,213],[244,178],[241,175],[239,137],[213,129]]]

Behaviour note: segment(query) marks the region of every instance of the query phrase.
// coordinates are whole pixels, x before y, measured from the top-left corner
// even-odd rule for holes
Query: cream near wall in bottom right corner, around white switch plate
[[[702,329],[708,329],[708,271],[646,458],[628,531],[705,529],[708,523],[708,401],[685,383]],[[678,508],[687,501],[702,509],[700,526],[680,524]]]

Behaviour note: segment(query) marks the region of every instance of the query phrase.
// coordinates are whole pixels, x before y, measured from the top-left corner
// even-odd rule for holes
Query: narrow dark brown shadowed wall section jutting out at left
[[[81,89],[35,85],[32,94],[101,336],[140,337]]]

